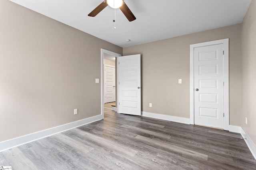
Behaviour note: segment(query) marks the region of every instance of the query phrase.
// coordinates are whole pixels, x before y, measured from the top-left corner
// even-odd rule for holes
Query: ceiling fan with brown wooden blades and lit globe
[[[124,0],[104,0],[99,6],[92,10],[88,16],[95,17],[107,6],[110,6],[111,8],[119,8],[129,21],[136,20],[136,17],[132,14]]]

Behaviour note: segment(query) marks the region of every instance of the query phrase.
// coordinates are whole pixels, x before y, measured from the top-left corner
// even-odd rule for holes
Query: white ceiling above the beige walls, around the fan
[[[120,47],[129,47],[241,23],[251,0],[125,0],[136,20],[107,6],[87,16],[103,0],[10,0]],[[126,42],[130,39],[130,42]]]

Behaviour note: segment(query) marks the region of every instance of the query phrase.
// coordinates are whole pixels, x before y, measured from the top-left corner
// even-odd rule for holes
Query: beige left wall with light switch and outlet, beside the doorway
[[[0,142],[101,114],[100,49],[121,47],[8,0],[0,25]]]

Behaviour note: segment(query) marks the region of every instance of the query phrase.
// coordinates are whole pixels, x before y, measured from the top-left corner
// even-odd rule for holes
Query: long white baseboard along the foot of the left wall
[[[69,129],[73,129],[75,127],[79,127],[79,126],[82,126],[82,125],[85,125],[85,124],[88,124],[88,123],[92,123],[92,122],[98,121],[100,119],[102,119],[102,115],[97,115],[97,116],[89,117],[89,118],[82,119],[82,120],[79,120],[79,121],[74,121],[72,123],[68,123],[68,124],[65,124],[65,125],[60,125],[60,126],[57,126],[57,127],[53,127],[53,128],[50,128],[50,129],[39,131],[39,132],[36,132],[36,133],[31,133],[31,134],[28,134],[28,135],[24,135],[22,137],[17,137],[17,138],[14,138],[14,139],[10,139],[8,141],[3,141],[3,142],[0,142],[0,152],[2,152],[4,150],[7,150],[7,149],[11,149],[13,147],[18,147],[19,145],[23,145],[25,143],[29,143],[29,142],[32,142],[32,141],[36,141],[38,139],[42,139],[44,137],[54,135],[56,133],[60,133],[60,132],[63,132],[63,131],[67,131]]]

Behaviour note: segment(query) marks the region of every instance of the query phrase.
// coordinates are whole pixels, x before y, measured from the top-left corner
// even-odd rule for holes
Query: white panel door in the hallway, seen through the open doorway
[[[115,102],[115,66],[104,64],[104,103]]]

